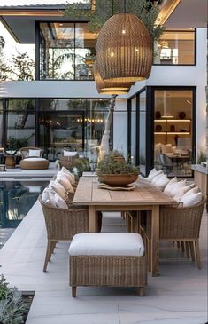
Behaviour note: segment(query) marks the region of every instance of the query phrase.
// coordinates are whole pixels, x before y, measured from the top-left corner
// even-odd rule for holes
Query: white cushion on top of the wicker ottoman
[[[81,233],[73,236],[70,256],[143,256],[143,239],[136,233]]]

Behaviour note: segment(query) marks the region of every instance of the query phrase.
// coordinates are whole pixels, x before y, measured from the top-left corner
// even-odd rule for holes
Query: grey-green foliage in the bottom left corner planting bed
[[[10,288],[4,279],[0,278],[0,323],[1,324],[23,324],[29,306],[23,302],[21,292]]]

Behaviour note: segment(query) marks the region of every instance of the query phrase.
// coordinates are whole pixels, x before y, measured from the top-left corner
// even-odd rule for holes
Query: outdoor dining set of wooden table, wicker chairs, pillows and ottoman
[[[155,169],[147,178],[139,176],[133,187],[99,187],[95,174],[77,182],[63,167],[40,195],[48,237],[43,271],[58,241],[71,241],[73,297],[77,286],[137,287],[143,296],[148,271],[160,275],[160,241],[177,243],[201,269],[198,240],[205,199],[198,187]],[[120,212],[127,233],[102,232],[106,211]]]

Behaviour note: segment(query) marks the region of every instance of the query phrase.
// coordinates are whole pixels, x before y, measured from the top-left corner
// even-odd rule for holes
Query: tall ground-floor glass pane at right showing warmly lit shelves
[[[191,176],[193,152],[192,90],[154,91],[154,164],[170,176]]]

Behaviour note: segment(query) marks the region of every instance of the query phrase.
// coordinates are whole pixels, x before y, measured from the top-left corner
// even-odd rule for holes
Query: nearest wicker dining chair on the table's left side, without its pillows
[[[58,241],[72,241],[73,235],[89,232],[89,209],[86,207],[73,208],[72,205],[69,206],[69,209],[52,207],[42,202],[42,195],[39,196],[39,202],[42,205],[48,238],[43,266],[45,272]]]

